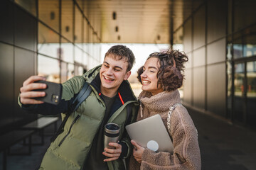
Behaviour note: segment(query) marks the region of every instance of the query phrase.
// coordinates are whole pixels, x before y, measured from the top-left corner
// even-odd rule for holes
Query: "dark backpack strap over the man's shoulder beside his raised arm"
[[[76,111],[80,104],[85,101],[85,99],[90,95],[90,92],[92,91],[91,86],[85,81],[84,86],[82,86],[82,89],[79,91],[78,96],[76,96],[75,100],[71,104],[68,113],[66,113],[65,118],[63,119],[62,123],[60,124],[60,128],[58,128],[57,132],[53,135],[53,137],[50,138],[50,142],[53,142],[60,133],[64,130],[64,125],[68,120],[68,117],[71,113]]]

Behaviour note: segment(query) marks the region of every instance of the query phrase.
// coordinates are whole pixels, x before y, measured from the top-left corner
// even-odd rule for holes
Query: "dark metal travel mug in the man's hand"
[[[104,130],[104,148],[114,149],[109,145],[110,142],[117,143],[119,137],[119,125],[115,123],[107,123]]]

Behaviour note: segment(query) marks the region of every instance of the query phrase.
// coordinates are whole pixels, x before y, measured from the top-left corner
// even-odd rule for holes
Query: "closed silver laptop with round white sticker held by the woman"
[[[144,148],[154,152],[174,152],[174,145],[159,114],[127,125],[125,128],[129,137]]]

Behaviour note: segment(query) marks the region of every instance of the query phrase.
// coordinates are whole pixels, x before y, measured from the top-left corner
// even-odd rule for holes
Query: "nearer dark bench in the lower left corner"
[[[12,145],[17,144],[22,140],[26,140],[28,137],[28,153],[31,154],[31,135],[35,130],[12,130],[4,135],[0,136],[0,152],[3,152],[3,169],[7,166],[7,154],[10,151]]]

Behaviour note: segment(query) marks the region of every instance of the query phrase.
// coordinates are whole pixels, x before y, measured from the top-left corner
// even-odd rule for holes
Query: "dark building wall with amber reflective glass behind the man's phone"
[[[0,1],[0,133],[38,117],[17,104],[25,79],[62,83],[100,64],[100,21],[89,12],[87,1]]]

